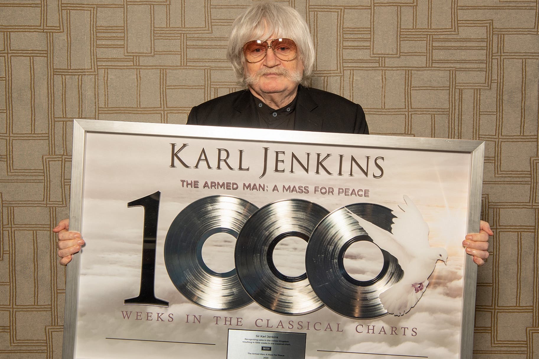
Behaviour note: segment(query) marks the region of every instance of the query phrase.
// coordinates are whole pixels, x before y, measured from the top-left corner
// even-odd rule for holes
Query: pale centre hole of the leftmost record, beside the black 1
[[[236,238],[233,235],[228,233],[212,234],[202,245],[202,259],[214,272],[229,272],[236,268],[234,247],[236,247]]]

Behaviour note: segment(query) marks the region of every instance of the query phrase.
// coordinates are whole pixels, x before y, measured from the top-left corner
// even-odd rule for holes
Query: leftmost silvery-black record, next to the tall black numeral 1
[[[172,283],[185,298],[209,309],[231,310],[252,302],[236,270],[212,271],[202,258],[202,246],[213,234],[238,237],[258,209],[251,202],[226,195],[199,199],[178,213],[164,245],[165,266]]]

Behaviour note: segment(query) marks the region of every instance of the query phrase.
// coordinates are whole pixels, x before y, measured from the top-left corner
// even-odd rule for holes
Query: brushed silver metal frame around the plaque
[[[479,228],[481,213],[481,189],[485,143],[478,140],[416,138],[396,136],[351,135],[347,133],[300,132],[284,130],[261,130],[225,128],[215,126],[192,126],[176,124],[154,124],[138,122],[99,121],[74,119],[73,156],[71,170],[70,229],[79,230],[82,224],[82,193],[84,188],[84,160],[86,133],[124,133],[132,135],[182,136],[192,138],[221,138],[264,142],[294,142],[305,144],[357,145],[388,149],[411,149],[445,152],[466,152],[472,156],[471,178],[469,178],[467,232]],[[64,319],[63,359],[74,359],[77,337],[77,304],[80,272],[79,256],[73,256],[67,266],[66,299]],[[464,293],[461,326],[460,359],[472,359],[473,328],[477,266],[471,256],[466,257],[464,268]]]

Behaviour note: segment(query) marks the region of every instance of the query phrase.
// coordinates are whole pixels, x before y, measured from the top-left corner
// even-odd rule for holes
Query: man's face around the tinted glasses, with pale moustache
[[[277,36],[271,38],[277,38]],[[268,48],[263,60],[254,64],[245,61],[244,72],[247,87],[255,93],[287,94],[301,82],[303,62],[299,59],[299,54],[290,61],[280,60],[272,49]]]

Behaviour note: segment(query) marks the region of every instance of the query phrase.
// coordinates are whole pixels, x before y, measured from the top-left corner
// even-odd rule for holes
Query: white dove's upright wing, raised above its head
[[[430,248],[429,225],[409,196],[404,195],[404,205],[399,205],[403,212],[393,212],[397,218],[393,220],[392,232],[407,252],[413,253]]]

